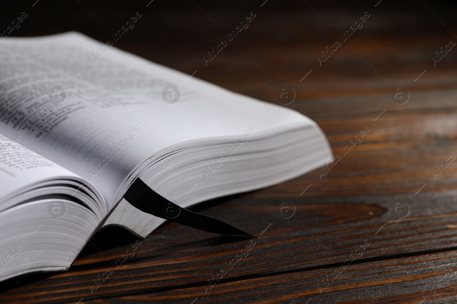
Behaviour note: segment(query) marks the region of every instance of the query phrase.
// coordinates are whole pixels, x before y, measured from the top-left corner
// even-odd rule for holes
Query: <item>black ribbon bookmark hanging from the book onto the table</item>
[[[124,198],[137,209],[181,225],[207,232],[254,237],[217,218],[192,212],[167,200],[155,192],[143,180],[137,178],[128,188]]]

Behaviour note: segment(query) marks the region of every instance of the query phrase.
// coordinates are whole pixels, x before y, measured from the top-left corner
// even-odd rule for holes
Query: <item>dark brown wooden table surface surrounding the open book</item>
[[[457,302],[457,165],[435,179],[432,174],[457,156],[457,50],[436,65],[431,60],[457,41],[448,4],[311,2],[317,13],[307,3],[234,2],[228,9],[197,2],[202,13],[191,2],[173,7],[154,1],[146,9],[149,1],[114,8],[82,1],[104,24],[101,30],[77,3],[55,25],[49,17],[57,4],[40,2],[17,35],[75,29],[104,40],[122,18],[141,10],[142,19],[118,47],[189,74],[198,69],[196,77],[271,103],[288,103],[282,90],[291,94],[293,88],[296,98],[287,107],[314,119],[342,159],[322,179],[316,170],[268,191],[195,208],[255,234],[254,241],[168,223],[115,269],[137,239],[110,228],[68,272],[0,283],[0,302]],[[2,14],[11,17],[15,10],[21,9]],[[206,52],[251,11],[250,27],[205,66]],[[321,52],[366,11],[363,28],[319,66]],[[405,88],[408,102],[394,103],[392,92],[403,89],[406,98]],[[340,149],[366,126],[363,142],[343,155]],[[254,242],[247,256],[229,265]],[[221,278],[221,269],[230,267]],[[113,273],[91,293],[107,269]],[[216,277],[214,286],[208,283]]]

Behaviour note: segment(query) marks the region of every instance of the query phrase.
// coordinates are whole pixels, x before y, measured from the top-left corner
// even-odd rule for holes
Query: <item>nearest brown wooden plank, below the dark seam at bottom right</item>
[[[371,245],[370,245],[371,246]],[[334,266],[262,278],[202,286],[96,303],[456,303],[457,252],[439,252]],[[135,279],[131,280],[137,284]],[[192,302],[195,301],[195,302]]]

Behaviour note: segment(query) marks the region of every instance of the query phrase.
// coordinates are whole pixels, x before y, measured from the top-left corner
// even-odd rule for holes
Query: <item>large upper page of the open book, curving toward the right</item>
[[[114,43],[71,32],[0,45],[0,133],[90,180],[108,209],[128,175],[173,144],[314,124]]]

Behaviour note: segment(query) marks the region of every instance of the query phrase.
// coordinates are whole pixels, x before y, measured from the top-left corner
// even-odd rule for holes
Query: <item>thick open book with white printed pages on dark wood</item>
[[[332,159],[319,127],[77,32],[0,42],[0,280],[69,268],[101,227],[165,222],[141,178],[188,207]]]

